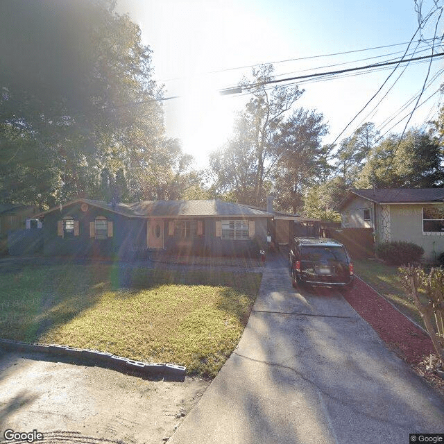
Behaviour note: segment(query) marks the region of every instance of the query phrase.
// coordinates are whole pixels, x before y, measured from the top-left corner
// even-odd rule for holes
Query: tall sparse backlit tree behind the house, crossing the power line
[[[276,163],[274,135],[303,91],[298,86],[269,89],[266,83],[273,78],[272,65],[254,68],[252,74],[252,79],[244,78],[240,83],[252,97],[238,114],[234,135],[223,149],[212,154],[210,165],[217,191],[232,190],[239,201],[264,205]],[[235,163],[237,160],[241,162]]]

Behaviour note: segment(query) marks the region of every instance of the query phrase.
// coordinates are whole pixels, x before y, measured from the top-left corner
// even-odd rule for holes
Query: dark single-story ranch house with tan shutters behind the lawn
[[[221,200],[108,204],[78,199],[36,217],[43,221],[44,255],[130,259],[161,249],[253,253],[258,239],[266,241],[273,213]]]

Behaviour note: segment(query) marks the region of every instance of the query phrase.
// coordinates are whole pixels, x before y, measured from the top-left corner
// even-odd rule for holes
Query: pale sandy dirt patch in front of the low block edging
[[[48,443],[164,443],[210,384],[43,359],[0,350],[0,440],[6,429],[36,429]]]

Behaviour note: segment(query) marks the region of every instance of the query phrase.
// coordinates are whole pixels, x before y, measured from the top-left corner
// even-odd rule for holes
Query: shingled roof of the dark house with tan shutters
[[[273,214],[264,210],[248,207],[239,203],[223,202],[222,200],[144,200],[136,203],[120,203],[110,205],[101,200],[78,199],[62,205],[72,205],[74,203],[87,203],[103,210],[115,212],[128,217],[220,217],[220,216],[241,216],[241,217],[272,217]],[[60,207],[53,207],[39,216],[44,216],[49,212],[58,210]]]

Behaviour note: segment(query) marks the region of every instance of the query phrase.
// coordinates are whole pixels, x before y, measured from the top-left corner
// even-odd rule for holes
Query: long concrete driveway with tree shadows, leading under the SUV
[[[268,259],[239,346],[171,444],[409,443],[444,402],[336,291],[295,291]]]

